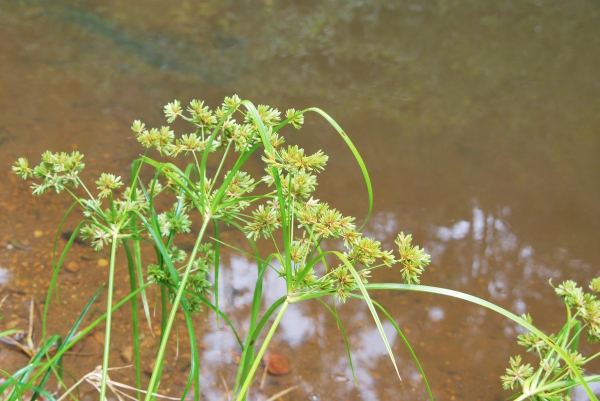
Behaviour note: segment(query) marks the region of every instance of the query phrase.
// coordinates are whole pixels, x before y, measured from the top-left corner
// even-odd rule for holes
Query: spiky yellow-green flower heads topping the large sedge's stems
[[[291,264],[296,295],[318,290],[331,292],[345,301],[349,293],[359,289],[355,277],[367,283],[373,269],[398,262],[403,266],[404,281],[418,284],[419,276],[429,264],[429,255],[411,245],[410,235],[398,236],[400,256],[396,259],[391,250],[382,249],[381,242],[364,236],[357,229],[354,217],[344,216],[313,197],[317,175],[326,167],[328,156],[321,150],[307,154],[297,145],[282,146],[285,140],[280,131],[286,125],[301,129],[305,111],[289,109],[282,122],[282,113],[275,108],[245,105],[248,103],[237,95],[226,97],[214,110],[200,100],[192,100],[187,107],[174,100],[165,105],[164,114],[168,124],[178,118],[191,124],[192,131],[183,135],[176,135],[169,126],[150,128],[134,121],[131,129],[147,150],[156,149],[170,157],[188,155],[195,161],[180,169],[171,163],[153,161],[145,154],[139,160],[139,168],[151,164],[156,169],[155,177],[147,185],[142,183],[139,172],[131,186],[126,186],[121,177],[103,173],[95,182],[98,193],[94,196],[79,180],[78,173],[84,165],[78,152],[71,155],[46,152],[42,163],[34,169],[28,167],[26,159],[19,159],[13,170],[24,179],[33,176],[43,180],[34,184],[36,195],[49,188],[60,192],[68,185],[81,185],[87,196],[72,193],[87,219],[81,235],[96,250],[115,242],[120,245],[128,239],[150,238],[160,242],[163,251],[157,252],[157,260],[149,264],[147,277],[169,288],[171,298],[183,279],[177,269],[186,265],[189,271],[185,288],[202,297],[210,294],[212,284],[208,276],[214,260],[198,257],[190,261],[186,252],[176,246],[179,235],[191,232],[196,212],[202,224],[212,220],[241,227],[250,241],[266,239],[279,247],[281,236],[286,236],[289,247],[286,254],[290,260],[282,264]],[[266,175],[256,180],[240,167],[261,147],[260,160]],[[238,162],[222,174],[222,168],[231,165],[226,159],[232,152],[238,154]],[[216,172],[209,174],[206,158],[214,153],[221,154],[221,162]],[[159,179],[165,184],[161,185]],[[262,190],[257,191],[259,188]],[[156,205],[162,206],[164,202],[155,199],[169,192],[175,195],[174,203],[162,212],[156,210]],[[256,192],[259,193],[255,195]],[[251,206],[253,209],[247,212]],[[287,231],[280,232],[282,227]],[[340,254],[350,266],[328,268],[325,258],[320,256],[326,242],[330,243],[327,247],[341,246]],[[176,267],[180,264],[181,267]],[[352,270],[356,270],[357,276]],[[278,273],[287,274],[283,269]],[[199,309],[197,297],[185,299],[190,309]]]

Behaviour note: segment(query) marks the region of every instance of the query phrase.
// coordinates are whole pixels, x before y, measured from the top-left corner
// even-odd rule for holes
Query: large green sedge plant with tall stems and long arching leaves
[[[309,112],[320,115],[333,127],[361,169],[369,208],[367,218],[359,227],[354,217],[345,216],[328,203],[314,197],[318,174],[325,168],[328,156],[322,151],[306,154],[296,145],[286,145],[293,136],[291,132],[302,128],[305,114]],[[398,253],[395,253],[395,250],[383,249],[379,241],[363,234],[361,230],[373,205],[369,174],[348,135],[322,110],[290,109],[283,118],[277,109],[266,105],[254,106],[249,101],[232,96],[225,98],[223,104],[215,110],[199,100],[192,101],[185,108],[175,100],[165,106],[164,114],[168,124],[182,119],[191,124],[193,132],[176,136],[169,126],[151,128],[139,120],[134,121],[131,129],[146,151],[132,163],[128,180],[102,173],[95,181],[95,188],[86,186],[79,176],[84,168],[83,155],[79,152],[45,152],[41,163],[35,167],[30,167],[28,160],[24,158],[18,159],[13,167],[15,173],[23,179],[32,177],[36,180],[32,185],[34,195],[42,195],[48,191],[70,194],[75,202],[67,215],[75,207],[79,207],[84,219],[69,237],[58,260],[55,258],[53,261],[53,280],[44,306],[42,347],[33,355],[28,366],[12,374],[10,381],[0,385],[0,393],[12,386],[8,399],[18,398],[24,389],[33,391],[34,399],[39,394],[48,396],[48,392],[43,389],[51,374],[54,374],[64,391],[70,389],[64,382],[62,369],[56,367],[60,365],[65,352],[101,322],[106,325],[101,367],[80,381],[86,380],[96,386],[100,399],[106,396],[107,388],[122,391],[120,389],[123,387],[119,387],[119,383],[110,380],[108,370],[112,351],[113,313],[127,303],[132,310],[136,389],[145,394],[146,400],[160,392],[165,354],[178,313],[182,313],[186,320],[185,329],[189,334],[192,359],[182,397],[192,392],[195,399],[200,399],[201,361],[195,336],[197,327],[194,314],[204,308],[214,311],[219,322],[222,320],[230,326],[238,340],[241,356],[232,386],[232,399],[236,401],[246,399],[257,368],[288,306],[311,299],[321,301],[339,325],[353,372],[352,353],[343,322],[336,308],[325,302],[330,298],[333,298],[333,302],[359,299],[367,305],[395,372],[400,377],[400,370],[378,315],[379,310],[395,327],[421,369],[400,328],[387,311],[371,299],[369,294],[374,290],[442,294],[501,313],[530,330],[548,350],[562,358],[565,366],[572,369],[569,371],[569,383],[581,383],[588,394],[591,394],[586,380],[592,379],[582,376],[577,367],[579,357],[570,353],[565,344],[558,344],[545,336],[527,319],[467,294],[420,285],[420,275],[430,258],[422,248],[412,244],[411,235],[403,232],[398,235]],[[291,132],[286,133],[285,129]],[[160,159],[151,158],[151,150],[158,152]],[[248,172],[251,163],[257,159],[254,156],[260,156],[260,161],[264,164],[262,177],[253,177]],[[159,161],[164,157],[179,158],[180,162],[175,164]],[[164,206],[166,203],[170,203],[170,206]],[[232,227],[242,233],[247,240],[248,250],[224,241],[220,235],[224,227]],[[195,242],[192,249],[186,252],[181,247],[181,238],[192,232]],[[46,340],[46,319],[51,294],[55,290],[65,256],[77,236],[87,239],[97,251],[110,249],[106,313],[79,331],[90,306],[96,301],[100,291],[104,291],[100,288],[83,308],[80,318],[66,338],[54,335]],[[154,251],[150,258],[142,252],[142,246],[147,244]],[[234,327],[219,307],[219,272],[222,269],[220,255],[224,246],[251,258],[257,265],[258,276],[247,326],[244,327],[244,339],[239,335],[239,328]],[[117,301],[115,274],[118,251],[123,251],[127,259],[130,292]],[[401,278],[404,283],[371,282],[371,275],[379,268],[398,269],[399,281]],[[275,272],[285,282],[286,294],[271,305],[263,305],[263,279],[268,270]],[[138,317],[138,302],[141,301],[145,319],[150,325],[152,317],[146,295],[150,286],[156,286],[156,292],[160,294],[163,313],[154,368],[147,390],[143,392],[139,343],[139,327],[142,323]],[[262,306],[266,306],[264,311]],[[258,346],[261,334],[265,337]],[[52,356],[48,355],[51,346],[56,348]],[[512,362],[515,369],[513,376],[517,375],[513,382],[529,377],[531,369],[521,367],[520,358]],[[422,369],[421,373],[429,396],[433,399]],[[563,380],[562,376],[560,378]],[[117,387],[119,390],[116,390]]]

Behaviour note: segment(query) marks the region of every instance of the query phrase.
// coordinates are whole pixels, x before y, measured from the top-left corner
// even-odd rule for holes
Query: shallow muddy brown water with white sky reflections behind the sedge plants
[[[162,105],[175,98],[216,106],[237,93],[280,109],[324,108],[372,175],[375,214],[367,231],[388,247],[399,231],[412,233],[432,255],[424,284],[530,312],[550,332],[564,309],[548,280],[583,284],[600,273],[596,2],[0,1],[0,38],[0,296],[10,294],[3,328],[26,326],[31,298],[41,305],[52,238],[70,204],[66,196],[32,198],[8,172],[12,161],[78,149],[87,179],[102,171],[126,175],[140,152],[131,122],[162,124]],[[366,194],[349,151],[316,118],[304,132],[301,145],[330,155],[318,197],[364,218]],[[52,332],[64,334],[105,281],[103,262],[89,260],[89,252],[77,245],[67,259]],[[233,254],[224,263],[221,304],[243,327],[254,269]],[[117,295],[124,295],[120,274]],[[398,279],[397,269],[375,277]],[[269,301],[283,289],[275,277],[266,280]],[[509,356],[522,352],[513,324],[458,300],[374,297],[405,331],[436,399],[510,395],[499,376]],[[91,313],[101,310],[99,303]],[[113,366],[127,359],[128,314],[117,312]],[[273,342],[292,373],[267,376],[253,397],[298,386],[282,399],[426,398],[390,325],[384,328],[402,382],[368,310],[348,301],[340,314],[358,388],[335,323],[322,306],[306,303],[289,309]],[[231,387],[239,352],[232,333],[213,323],[212,316],[198,318],[207,400]],[[148,329],[142,336],[147,349],[156,345]],[[75,377],[100,363],[101,340],[91,335],[70,355]],[[25,362],[1,346],[2,368]],[[188,366],[182,346],[161,388],[177,394]],[[131,372],[115,375],[132,383]],[[84,398],[97,397],[85,391]]]

